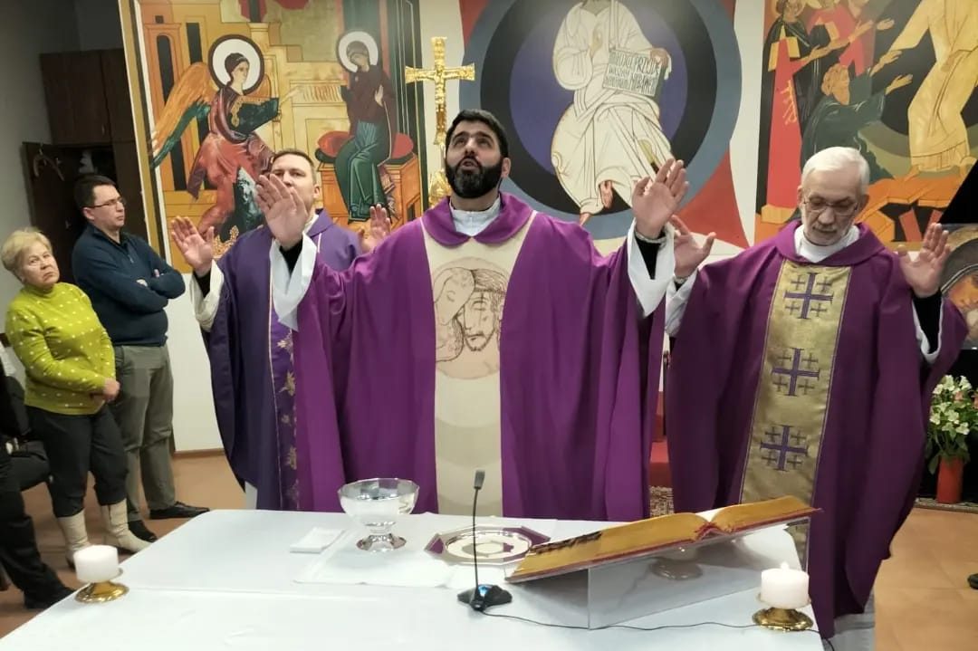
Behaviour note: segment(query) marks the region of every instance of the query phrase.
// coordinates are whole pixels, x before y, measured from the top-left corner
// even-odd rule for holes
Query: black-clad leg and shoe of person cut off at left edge
[[[12,465],[7,447],[0,446],[0,565],[27,598],[43,601],[65,586],[41,560]]]

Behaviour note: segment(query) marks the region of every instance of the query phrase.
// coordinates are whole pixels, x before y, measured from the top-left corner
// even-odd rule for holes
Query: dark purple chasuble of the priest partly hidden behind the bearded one
[[[360,253],[357,235],[333,224],[325,211],[308,235],[319,249],[319,263],[333,269],[346,269]],[[294,510],[291,332],[272,306],[271,246],[271,234],[261,227],[245,233],[217,262],[224,285],[204,342],[217,426],[232,471],[239,482],[257,488],[258,508]]]

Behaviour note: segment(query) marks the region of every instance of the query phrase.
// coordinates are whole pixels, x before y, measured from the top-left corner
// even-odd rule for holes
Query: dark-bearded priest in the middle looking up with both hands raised
[[[297,327],[300,506],[338,510],[344,483],[396,476],[420,485],[417,511],[467,513],[483,469],[484,514],[646,516],[682,162],[636,179],[635,223],[601,257],[580,226],[499,191],[511,161],[492,114],[463,111],[447,143],[451,199],[344,273],[311,254],[291,193],[259,181],[275,306]]]

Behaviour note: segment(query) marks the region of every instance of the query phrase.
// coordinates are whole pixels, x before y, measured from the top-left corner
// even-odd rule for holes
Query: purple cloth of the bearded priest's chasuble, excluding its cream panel
[[[502,195],[475,240],[493,246],[531,210]],[[300,506],[338,510],[336,491],[402,477],[437,511],[435,315],[424,231],[467,241],[447,199],[342,274],[318,263],[293,333]],[[662,308],[642,319],[624,247],[600,257],[576,224],[538,214],[512,268],[500,326],[503,512],[636,520],[648,457]]]

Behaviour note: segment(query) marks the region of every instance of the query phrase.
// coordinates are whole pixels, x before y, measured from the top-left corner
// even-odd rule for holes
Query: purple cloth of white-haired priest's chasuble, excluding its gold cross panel
[[[761,445],[774,452],[748,447],[761,384],[781,382],[782,393],[793,395],[805,381],[791,377],[785,384],[790,369],[764,364],[778,277],[790,263],[849,268],[821,447],[798,453],[818,455],[812,504],[822,512],[812,517],[808,572],[819,629],[830,637],[834,618],[863,612],[890,541],[910,512],[923,468],[931,391],[954,362],[966,328],[945,301],[941,352],[928,367],[897,255],[860,225],[860,239],[812,263],[795,251],[795,228],[699,271],[669,365],[669,461],[677,511],[740,501],[752,453],[771,455],[785,477],[792,472],[797,456],[783,462],[775,439]],[[827,298],[819,291],[800,286],[788,297],[797,299],[789,309],[800,319],[817,318],[822,307],[816,304]],[[799,350],[804,342],[788,345]],[[787,450],[788,444],[779,445]]]

